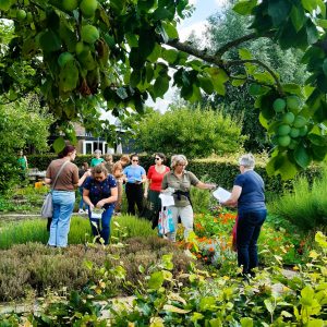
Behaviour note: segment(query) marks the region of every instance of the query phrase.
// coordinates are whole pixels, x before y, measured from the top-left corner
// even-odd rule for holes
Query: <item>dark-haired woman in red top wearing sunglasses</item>
[[[158,225],[159,211],[161,210],[161,199],[159,197],[161,192],[161,182],[164,175],[170,171],[169,167],[165,165],[166,156],[161,153],[155,154],[155,164],[149,167],[147,171],[147,181],[144,189],[144,197],[148,199],[152,211],[153,228]]]

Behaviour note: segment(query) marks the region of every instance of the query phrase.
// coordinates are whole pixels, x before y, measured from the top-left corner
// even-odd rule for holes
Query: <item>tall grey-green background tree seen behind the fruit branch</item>
[[[251,17],[239,15],[232,10],[231,5],[211,15],[208,19],[208,28],[205,33],[209,51],[215,53],[221,45],[244,37],[246,33],[251,32],[247,31],[250,23]],[[253,58],[272,68],[283,83],[303,85],[308,76],[308,73],[305,72],[305,65],[301,63],[303,52],[299,49],[282,50],[271,39],[259,38],[244,41],[242,45],[229,49],[223,53],[223,58],[237,60],[239,58],[238,50],[241,48],[246,48],[253,55]],[[259,111],[254,108],[254,98],[252,96],[254,88],[257,88],[258,85],[253,84],[250,78],[247,82],[244,81],[246,78],[244,68],[234,68],[233,75],[235,77],[230,83],[227,83],[228,92],[226,96],[209,96],[206,102],[209,102],[213,108],[223,104],[225,106],[221,106],[223,112],[237,118],[242,117],[242,134],[249,135],[244,143],[246,150],[261,152],[264,148],[271,147],[271,142],[266,135],[265,128],[253,123],[258,120],[259,116]]]

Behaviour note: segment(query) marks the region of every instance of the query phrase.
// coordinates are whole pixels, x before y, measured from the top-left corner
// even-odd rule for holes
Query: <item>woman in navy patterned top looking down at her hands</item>
[[[105,244],[109,243],[110,221],[117,201],[117,183],[102,165],[92,169],[92,177],[87,177],[83,184],[83,199],[88,205],[88,217],[94,237],[104,239]],[[101,227],[100,219],[93,218],[94,208],[102,208]]]

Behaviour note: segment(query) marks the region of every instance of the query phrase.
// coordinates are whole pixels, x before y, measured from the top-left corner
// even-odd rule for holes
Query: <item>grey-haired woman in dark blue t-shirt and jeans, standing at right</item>
[[[243,274],[254,275],[253,268],[258,266],[257,239],[266,219],[265,184],[254,169],[253,155],[240,158],[240,171],[226,206],[238,206],[237,249],[238,264],[243,266]]]

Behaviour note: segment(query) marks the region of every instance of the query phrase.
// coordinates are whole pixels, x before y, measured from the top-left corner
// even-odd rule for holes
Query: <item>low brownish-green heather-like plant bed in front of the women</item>
[[[174,254],[173,275],[187,270],[190,258],[174,244],[157,237],[130,238],[109,246],[77,244],[64,250],[36,242],[13,245],[0,251],[0,301],[29,294],[32,299],[45,296],[47,290],[61,294],[63,289],[70,292],[87,287],[94,295],[130,295],[138,280],[144,280],[144,272],[167,253]]]

